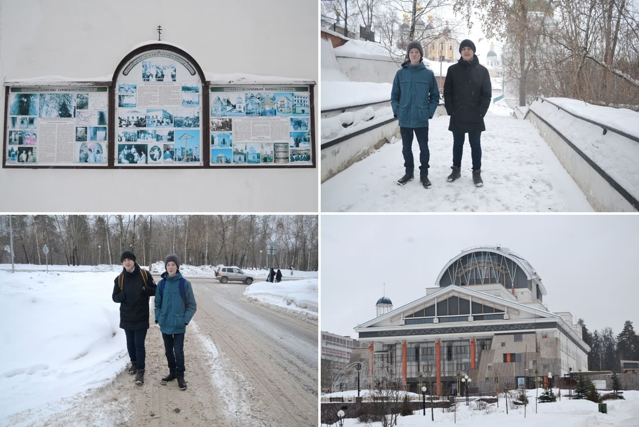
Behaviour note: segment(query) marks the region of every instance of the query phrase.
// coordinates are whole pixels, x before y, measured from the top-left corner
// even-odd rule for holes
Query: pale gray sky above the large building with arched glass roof
[[[639,215],[321,215],[321,330],[357,338],[383,296],[393,308],[425,295],[463,249],[501,245],[537,271],[553,312],[592,332],[639,330]]]

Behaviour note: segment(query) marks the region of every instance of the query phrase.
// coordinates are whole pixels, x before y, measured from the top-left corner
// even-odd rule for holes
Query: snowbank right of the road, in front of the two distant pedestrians
[[[246,288],[244,295],[273,306],[302,311],[318,316],[318,279],[304,279],[280,283],[259,282]]]

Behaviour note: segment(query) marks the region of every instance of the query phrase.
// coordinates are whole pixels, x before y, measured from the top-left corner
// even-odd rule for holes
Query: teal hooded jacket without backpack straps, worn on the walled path
[[[390,106],[400,127],[427,127],[439,104],[435,74],[420,62],[404,62],[397,70],[390,91]]]

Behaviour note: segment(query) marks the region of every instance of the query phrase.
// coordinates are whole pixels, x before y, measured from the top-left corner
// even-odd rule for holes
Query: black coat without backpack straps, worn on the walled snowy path
[[[486,130],[484,116],[491,95],[490,75],[477,56],[470,62],[459,58],[458,63],[448,68],[443,84],[444,105],[450,116],[448,130],[460,133]]]

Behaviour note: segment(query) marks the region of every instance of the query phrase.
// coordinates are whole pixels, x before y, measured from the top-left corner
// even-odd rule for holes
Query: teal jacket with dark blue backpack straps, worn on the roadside
[[[178,274],[169,277],[164,272],[162,278],[166,280],[163,295],[160,295],[159,284],[155,290],[155,321],[159,323],[162,334],[183,334],[197,309],[191,283],[188,280],[184,282],[184,301],[180,295],[182,274],[178,271]]]

